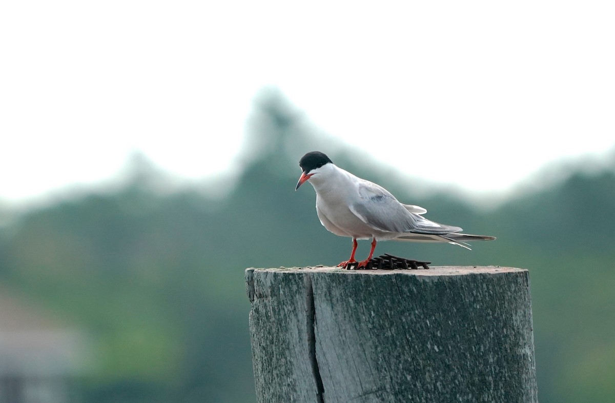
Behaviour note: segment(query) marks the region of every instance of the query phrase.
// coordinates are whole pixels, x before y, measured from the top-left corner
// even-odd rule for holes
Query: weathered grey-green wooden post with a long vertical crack
[[[245,271],[258,402],[537,402],[528,271]]]

